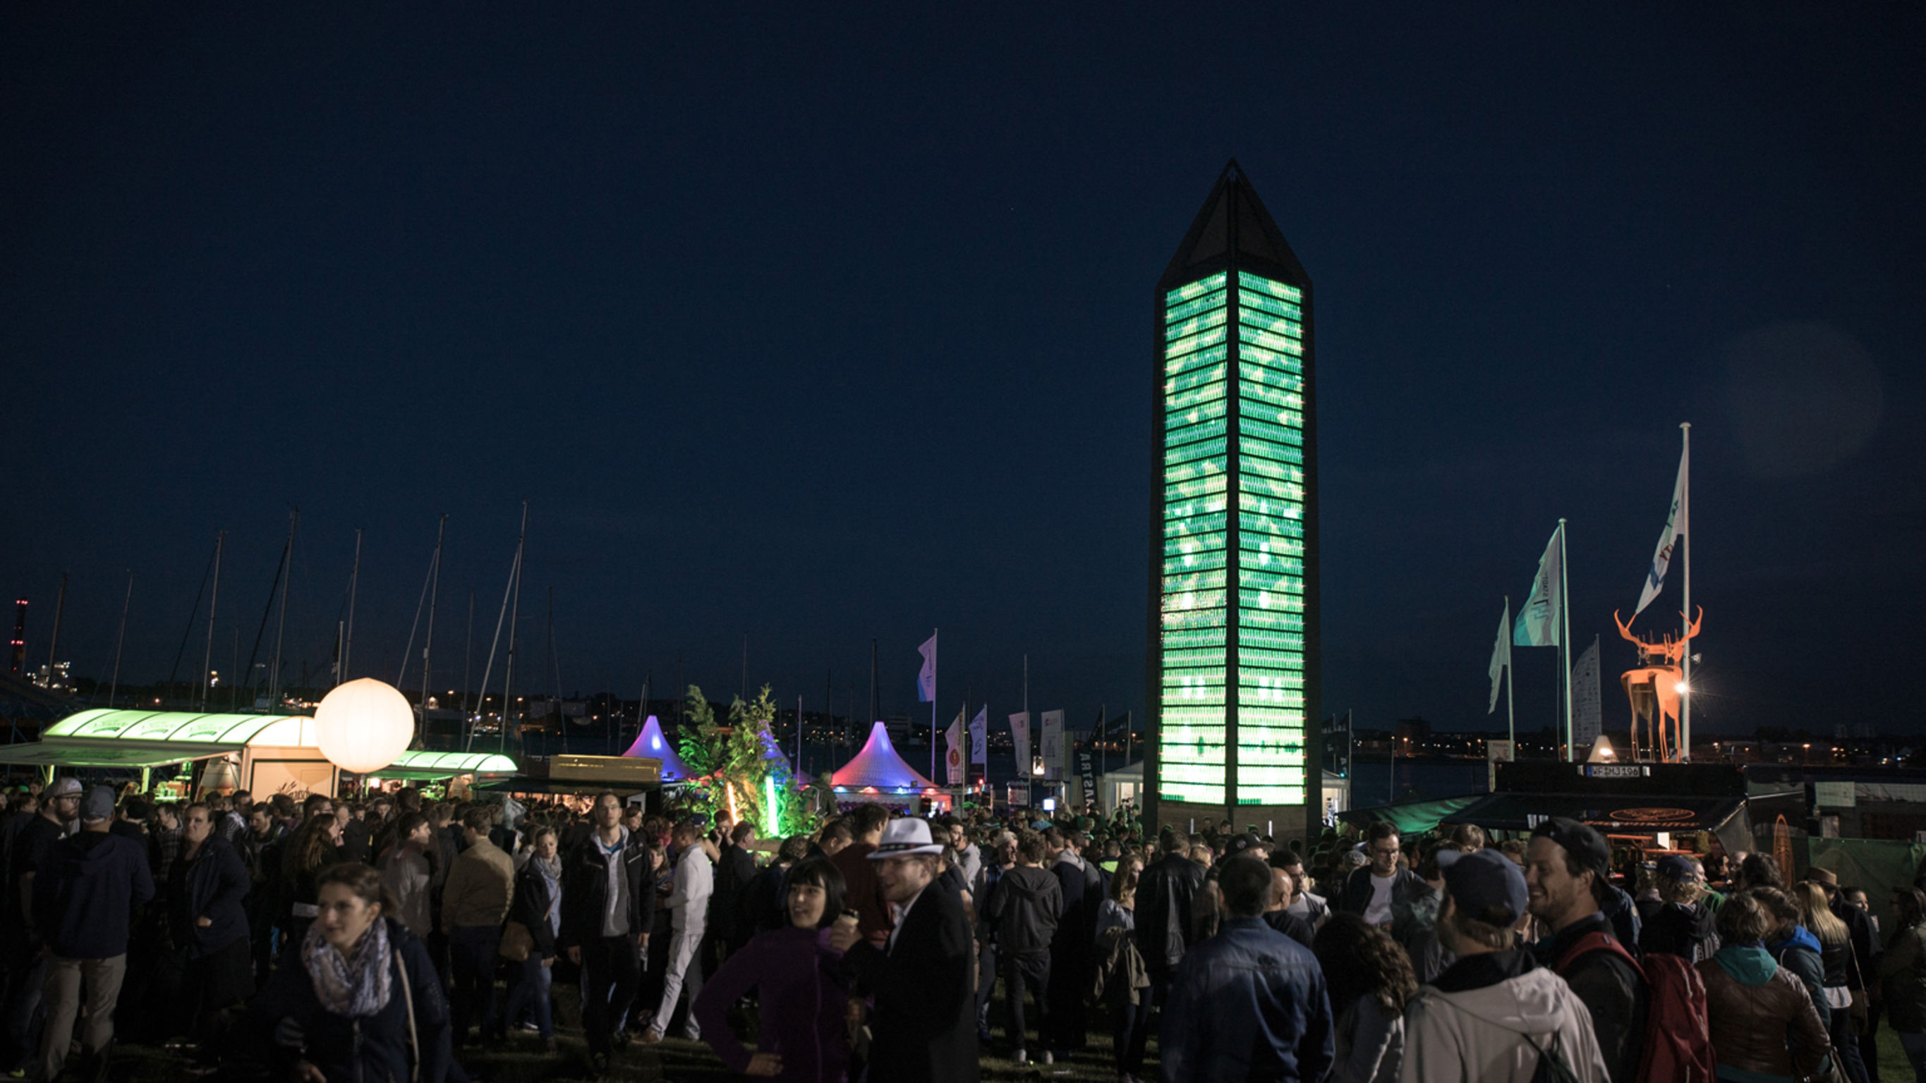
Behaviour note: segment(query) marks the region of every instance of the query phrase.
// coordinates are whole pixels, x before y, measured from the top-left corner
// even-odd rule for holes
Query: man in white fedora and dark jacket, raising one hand
[[[840,919],[830,946],[876,998],[869,1060],[892,1081],[976,1083],[976,944],[963,902],[934,889],[942,846],[924,819],[892,819],[871,850],[894,927],[884,946]]]

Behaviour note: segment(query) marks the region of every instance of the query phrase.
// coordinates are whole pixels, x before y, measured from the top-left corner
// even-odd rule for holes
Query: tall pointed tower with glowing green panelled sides
[[[1312,281],[1236,162],[1158,281],[1152,823],[1321,812]]]

